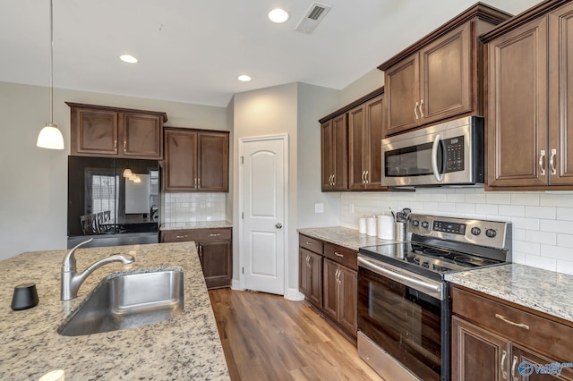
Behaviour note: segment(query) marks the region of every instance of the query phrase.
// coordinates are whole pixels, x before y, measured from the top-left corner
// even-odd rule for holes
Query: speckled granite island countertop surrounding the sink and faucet
[[[112,263],[90,275],[73,301],[60,301],[60,267],[66,250],[26,252],[0,262],[0,379],[38,380],[64,369],[68,380],[228,380],[227,362],[193,242],[79,249],[83,270],[111,253],[135,262]],[[184,312],[152,326],[62,336],[56,329],[96,285],[115,273],[184,270]],[[10,308],[13,287],[35,283],[39,304]]]

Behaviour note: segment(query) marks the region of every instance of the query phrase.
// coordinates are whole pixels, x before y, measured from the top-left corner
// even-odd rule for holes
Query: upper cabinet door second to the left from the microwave
[[[364,106],[357,106],[348,112],[348,189],[363,190],[366,163],[370,157],[368,131],[365,123]],[[380,146],[380,145],[379,145]],[[380,149],[380,147],[379,147]]]

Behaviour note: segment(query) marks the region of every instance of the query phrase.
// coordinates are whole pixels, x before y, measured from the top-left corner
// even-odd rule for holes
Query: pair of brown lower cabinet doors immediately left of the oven
[[[357,282],[354,270],[324,258],[324,313],[353,336],[357,330]]]

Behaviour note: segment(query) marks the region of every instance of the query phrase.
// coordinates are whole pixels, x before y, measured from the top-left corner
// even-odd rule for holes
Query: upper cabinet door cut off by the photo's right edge
[[[573,4],[549,15],[549,149],[552,185],[573,185]]]

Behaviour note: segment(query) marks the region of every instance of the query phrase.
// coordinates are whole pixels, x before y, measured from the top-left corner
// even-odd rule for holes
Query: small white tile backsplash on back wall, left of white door
[[[225,221],[227,193],[163,193],[162,221]]]

